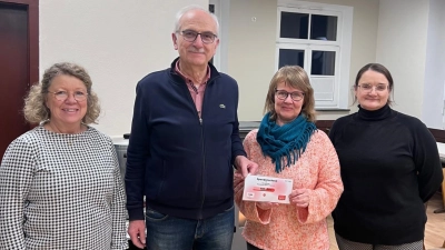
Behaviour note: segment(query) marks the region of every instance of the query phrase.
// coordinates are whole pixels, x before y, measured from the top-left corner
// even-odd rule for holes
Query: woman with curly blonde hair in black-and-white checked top
[[[111,139],[88,126],[100,108],[87,71],[56,63],[26,99],[40,123],[0,167],[0,249],[127,249],[125,193]]]

